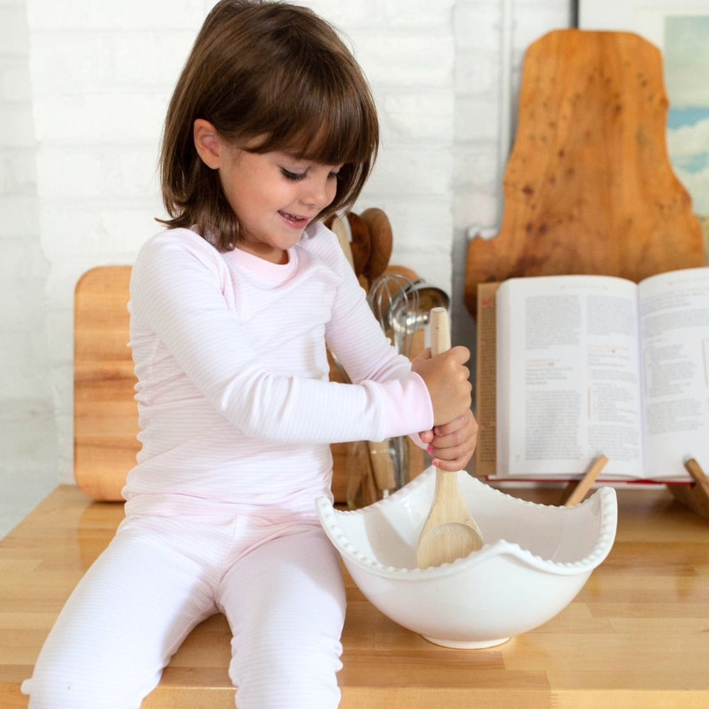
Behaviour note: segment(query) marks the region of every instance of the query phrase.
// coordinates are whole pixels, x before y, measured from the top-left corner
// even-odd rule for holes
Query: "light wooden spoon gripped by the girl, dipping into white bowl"
[[[431,308],[431,354],[450,350],[450,325],[445,308]],[[467,557],[484,545],[483,535],[471,517],[458,487],[457,471],[436,469],[436,486],[428,518],[416,549],[416,566],[440,566]]]

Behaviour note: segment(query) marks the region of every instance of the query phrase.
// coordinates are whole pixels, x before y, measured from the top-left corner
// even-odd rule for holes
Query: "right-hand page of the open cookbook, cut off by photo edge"
[[[709,268],[642,281],[640,332],[647,473],[689,479],[709,470]]]

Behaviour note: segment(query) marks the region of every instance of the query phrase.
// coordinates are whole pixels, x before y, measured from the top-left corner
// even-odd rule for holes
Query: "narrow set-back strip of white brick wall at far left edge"
[[[23,0],[0,2],[0,535],[57,479]]]

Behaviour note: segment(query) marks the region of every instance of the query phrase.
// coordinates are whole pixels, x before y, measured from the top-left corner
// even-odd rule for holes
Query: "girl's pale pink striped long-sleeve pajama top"
[[[430,396],[381,332],[335,235],[310,225],[273,264],[191,230],[140,251],[130,283],[138,464],[127,512],[313,508],[329,444],[432,427]],[[328,381],[329,347],[353,384]]]

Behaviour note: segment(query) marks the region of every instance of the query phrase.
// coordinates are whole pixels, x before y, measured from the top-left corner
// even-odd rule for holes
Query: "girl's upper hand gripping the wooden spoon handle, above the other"
[[[433,424],[442,425],[470,411],[472,386],[465,363],[470,359],[467,347],[452,347],[436,357],[430,349],[411,362],[411,369],[426,386],[433,406]]]

